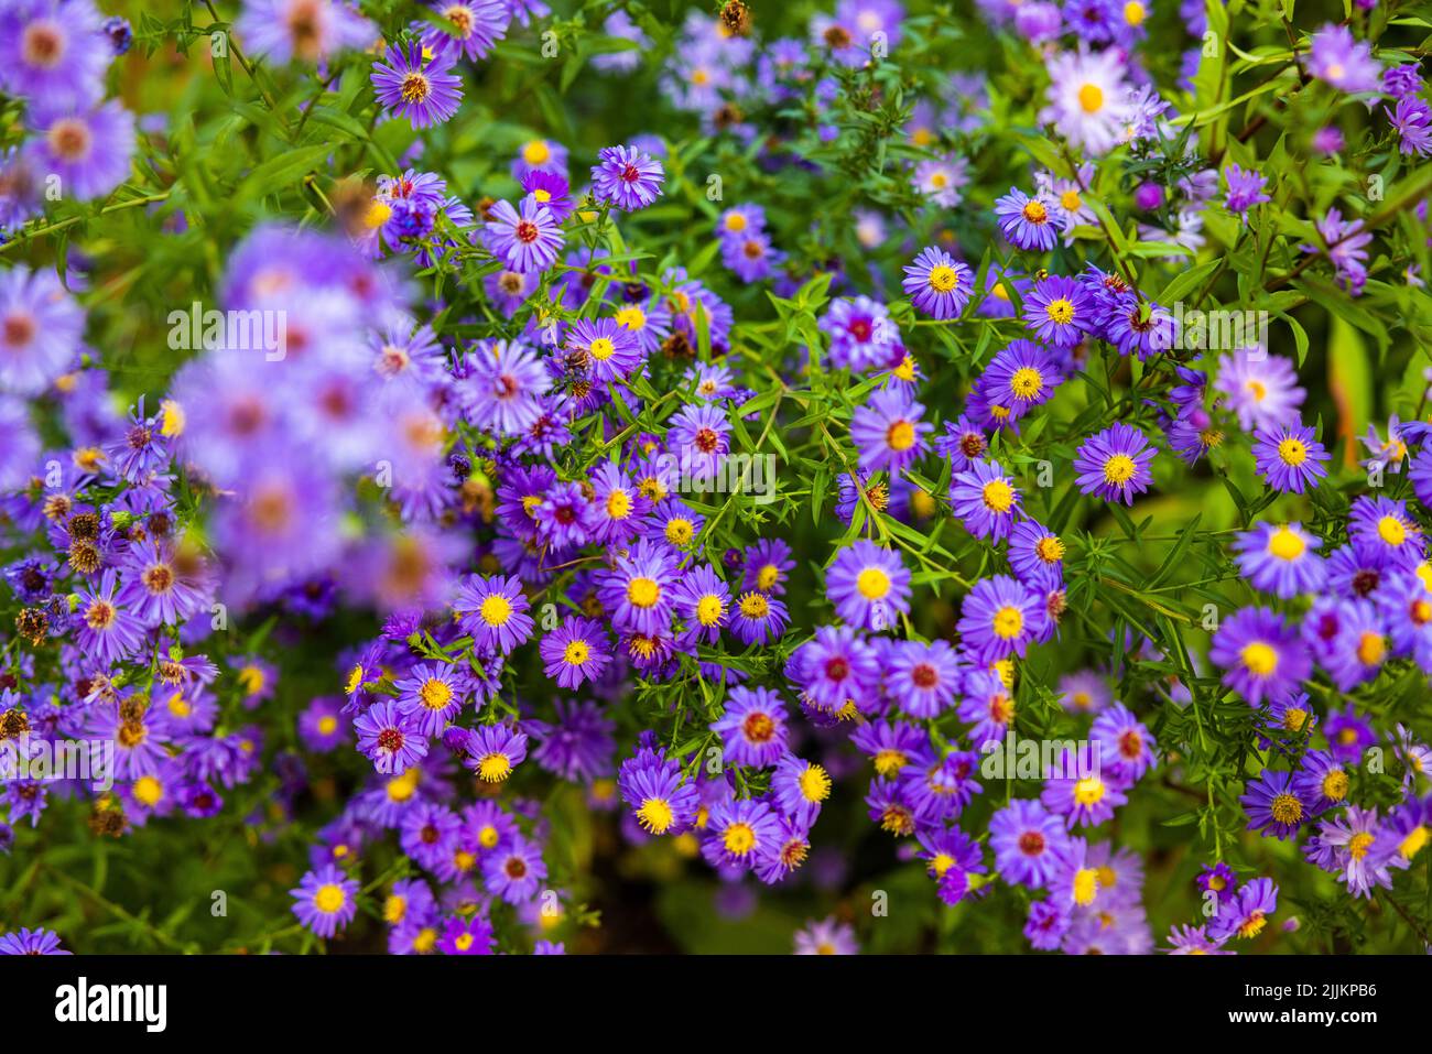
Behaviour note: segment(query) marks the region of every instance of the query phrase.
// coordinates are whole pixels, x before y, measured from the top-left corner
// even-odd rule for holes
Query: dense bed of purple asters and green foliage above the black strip
[[[0,0],[0,951],[1422,951],[1426,4]]]

